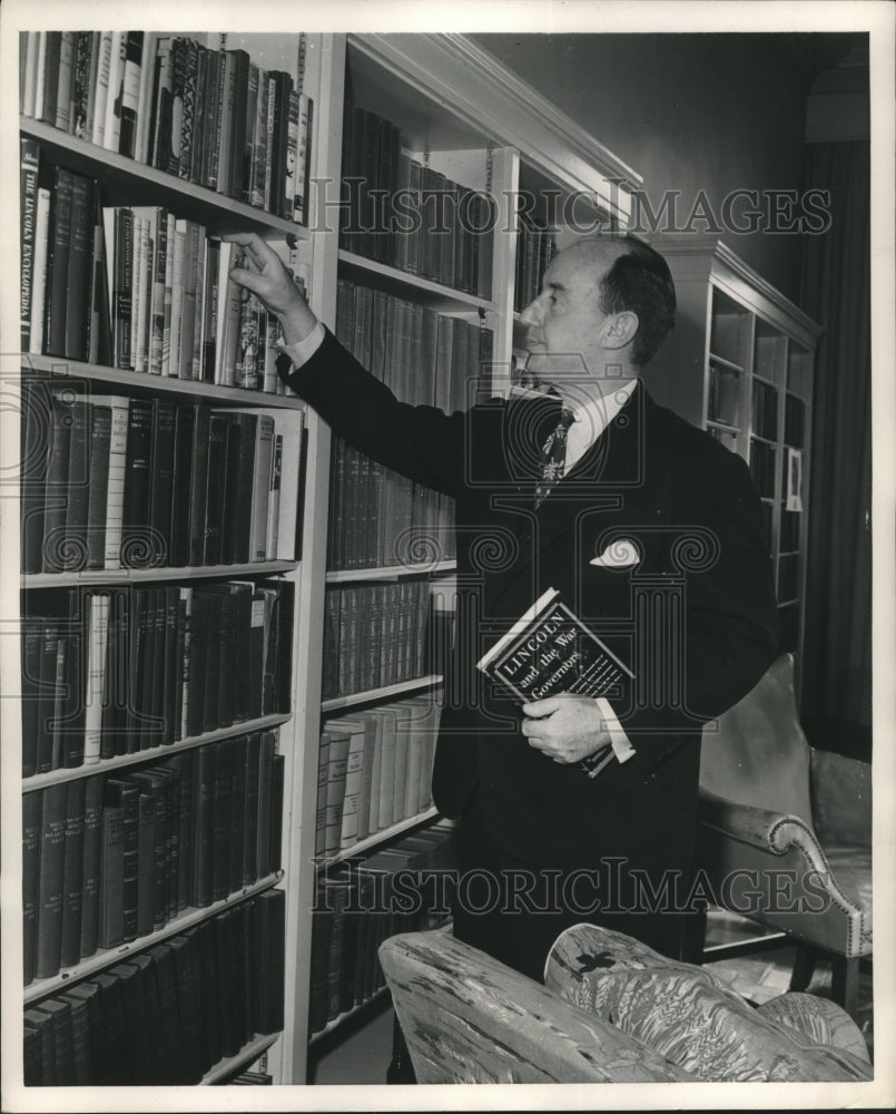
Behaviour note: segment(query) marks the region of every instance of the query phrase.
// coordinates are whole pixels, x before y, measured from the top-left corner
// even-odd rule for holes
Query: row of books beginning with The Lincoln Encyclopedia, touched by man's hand
[[[20,154],[26,352],[285,393],[276,320],[228,278],[234,244],[163,206],[104,206],[35,139]]]

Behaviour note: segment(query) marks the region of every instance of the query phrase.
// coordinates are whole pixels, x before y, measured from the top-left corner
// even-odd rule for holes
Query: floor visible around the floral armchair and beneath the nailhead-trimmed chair
[[[710,917],[707,945],[736,944],[756,935],[756,927],[733,915]],[[794,949],[784,945],[756,955],[736,959],[720,959],[711,964],[717,974],[750,1001],[761,1005],[787,990],[794,966]],[[830,968],[819,964],[809,993],[824,997],[830,994]],[[874,1058],[874,1012],[870,975],[859,981],[858,1025]],[[309,1083],[315,1084],[376,1084],[386,1082],[386,1069],[392,1059],[392,1032],[394,1014],[388,998],[371,1004],[351,1019],[351,1028],[333,1033],[314,1046]]]

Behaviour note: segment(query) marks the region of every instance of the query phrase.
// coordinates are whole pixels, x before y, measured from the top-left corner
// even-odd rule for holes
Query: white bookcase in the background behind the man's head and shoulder
[[[721,241],[666,235],[654,243],[676,282],[678,322],[644,381],[658,401],[750,466],[766,516],[780,649],[795,653],[799,668],[820,329]]]

